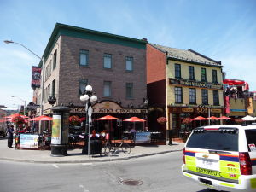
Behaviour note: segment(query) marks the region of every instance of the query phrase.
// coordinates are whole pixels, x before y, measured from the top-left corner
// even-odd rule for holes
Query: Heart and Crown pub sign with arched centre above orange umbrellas
[[[93,113],[142,113],[147,114],[148,109],[122,108],[115,102],[99,102],[92,106]],[[85,113],[85,108],[72,108],[71,113]]]

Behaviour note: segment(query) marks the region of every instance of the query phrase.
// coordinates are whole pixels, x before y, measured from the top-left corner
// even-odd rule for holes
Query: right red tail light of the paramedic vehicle
[[[252,162],[248,152],[239,153],[241,175],[252,175]]]

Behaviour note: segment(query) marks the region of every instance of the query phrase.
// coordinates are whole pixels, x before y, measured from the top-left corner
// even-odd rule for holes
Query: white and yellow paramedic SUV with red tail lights
[[[195,128],[183,148],[183,176],[207,188],[256,191],[256,125]]]

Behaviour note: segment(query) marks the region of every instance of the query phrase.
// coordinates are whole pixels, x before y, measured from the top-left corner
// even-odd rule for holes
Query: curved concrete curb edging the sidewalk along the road
[[[134,155],[130,157],[119,157],[116,159],[108,158],[105,160],[64,160],[64,161],[47,161],[47,160],[19,160],[19,159],[10,159],[10,158],[0,158],[0,160],[7,160],[7,161],[13,161],[13,162],[21,162],[21,163],[37,163],[37,164],[73,164],[73,163],[101,163],[101,162],[111,162],[111,161],[119,161],[119,160],[131,160],[131,159],[136,159],[140,157],[146,157],[146,156],[154,156],[157,154],[167,154],[167,153],[172,153],[172,152],[177,152],[177,151],[182,151],[183,149],[176,149],[176,150],[168,150],[168,151],[161,151],[161,152],[156,152],[156,153],[150,153],[150,154],[139,154],[139,155]],[[94,158],[94,157],[91,157]]]

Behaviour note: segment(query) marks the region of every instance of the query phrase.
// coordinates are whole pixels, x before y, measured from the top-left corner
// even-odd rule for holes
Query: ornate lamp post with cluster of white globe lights
[[[87,85],[85,87],[85,93],[83,96],[80,96],[80,101],[84,103],[85,105],[85,118],[86,118],[86,124],[85,124],[85,133],[88,134],[88,156],[90,155],[90,125],[91,125],[91,114],[92,114],[92,108],[91,108],[91,102],[97,101],[97,96],[92,93],[92,87],[90,85]],[[85,154],[86,151],[86,143],[84,143],[84,149],[82,154]]]

